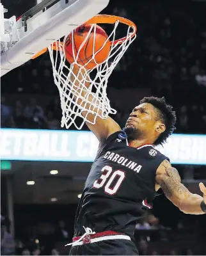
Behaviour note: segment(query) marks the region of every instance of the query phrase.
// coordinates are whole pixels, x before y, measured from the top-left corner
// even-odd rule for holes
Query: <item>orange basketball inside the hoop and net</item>
[[[74,63],[74,58],[77,57],[77,52],[79,51],[81,44],[84,42],[86,36],[88,36],[88,32],[90,31],[91,26],[92,24],[84,24],[75,29],[73,41],[74,49],[72,44],[72,33],[67,36],[67,39],[65,40],[65,56],[69,63]],[[96,25],[95,31],[95,27],[93,27],[90,36],[88,36],[88,39],[79,51],[77,63],[83,66],[91,60],[85,66],[85,68],[91,69],[104,62],[109,56],[110,51],[110,42],[107,40],[107,38],[108,36],[104,29]],[[106,44],[104,45],[105,42]],[[99,52],[93,56],[93,52],[95,53],[97,51]]]

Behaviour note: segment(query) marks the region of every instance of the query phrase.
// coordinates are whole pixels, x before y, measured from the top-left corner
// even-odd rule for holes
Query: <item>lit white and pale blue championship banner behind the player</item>
[[[1,129],[2,160],[92,162],[99,142],[92,132]],[[173,164],[205,164],[206,135],[173,134],[157,147]]]

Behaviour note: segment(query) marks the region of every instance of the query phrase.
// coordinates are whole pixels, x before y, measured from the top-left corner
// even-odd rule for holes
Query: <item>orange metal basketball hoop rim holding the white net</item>
[[[132,38],[136,35],[136,32],[138,30],[136,24],[134,24],[134,22],[132,22],[131,20],[120,17],[120,16],[99,14],[99,15],[94,16],[90,20],[84,22],[84,24],[106,24],[106,23],[107,24],[115,24],[116,21],[119,21],[120,23],[131,27],[133,29],[133,31],[132,31],[132,33],[130,33],[130,36],[124,36],[123,38],[120,38],[113,42],[110,42],[111,45],[123,44],[123,42],[125,42],[125,40],[129,40],[129,38]],[[59,51],[60,48],[63,49],[63,42],[54,42],[52,44],[52,49],[54,51]],[[42,51],[35,54],[35,56],[33,56],[31,59],[33,60],[33,59],[37,58],[38,56],[44,54],[47,51],[47,49],[48,49],[48,47],[44,48]]]

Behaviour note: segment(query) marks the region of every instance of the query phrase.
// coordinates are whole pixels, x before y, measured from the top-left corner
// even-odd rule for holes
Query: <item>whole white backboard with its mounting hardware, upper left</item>
[[[1,76],[101,12],[109,0],[43,0],[18,20],[0,6]],[[48,8],[49,4],[53,4]]]

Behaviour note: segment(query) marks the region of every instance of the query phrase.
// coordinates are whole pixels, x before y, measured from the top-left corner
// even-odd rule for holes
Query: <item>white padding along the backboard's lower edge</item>
[[[68,3],[60,0],[45,12],[28,19],[27,31],[19,19],[16,24],[19,41],[1,53],[1,76],[97,15],[108,3],[109,0],[69,0]]]

